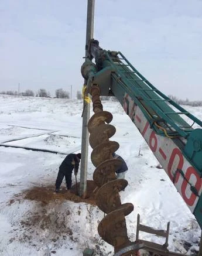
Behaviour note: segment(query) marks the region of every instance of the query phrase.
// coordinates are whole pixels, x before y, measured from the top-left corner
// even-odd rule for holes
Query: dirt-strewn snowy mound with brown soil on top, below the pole
[[[90,235],[89,243],[102,245],[95,229],[98,213],[95,207],[95,189],[94,182],[88,180],[85,199],[76,194],[75,185],[70,191],[61,189],[60,193],[55,193],[54,186],[40,186],[16,194],[8,203],[9,207],[17,205],[23,209],[29,205],[27,200],[36,203],[31,203],[30,209],[13,222],[15,229],[11,243],[18,240],[28,243],[38,251],[46,251],[51,246],[49,253],[53,253],[62,247],[73,250],[72,247],[77,246],[76,244],[81,248],[88,246],[86,241]],[[79,204],[81,202],[85,204]]]

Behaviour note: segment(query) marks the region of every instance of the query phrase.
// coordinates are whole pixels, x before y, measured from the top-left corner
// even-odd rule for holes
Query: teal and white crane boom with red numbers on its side
[[[102,50],[94,39],[88,52],[83,76],[99,85],[100,95],[119,100],[202,227],[202,122],[153,86],[121,52]]]

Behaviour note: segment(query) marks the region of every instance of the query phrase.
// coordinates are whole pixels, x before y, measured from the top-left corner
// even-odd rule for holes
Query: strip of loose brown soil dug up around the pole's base
[[[79,186],[80,183],[77,183],[78,192]],[[57,200],[57,202],[70,200],[76,203],[85,202],[95,205],[95,188],[96,185],[93,180],[87,180],[87,195],[85,196],[85,199],[77,195],[76,185],[72,186],[70,191],[63,188],[59,193],[54,192],[55,189],[53,186],[32,187],[31,189],[25,190],[23,197],[28,200],[36,200],[42,204],[49,204],[54,200]]]

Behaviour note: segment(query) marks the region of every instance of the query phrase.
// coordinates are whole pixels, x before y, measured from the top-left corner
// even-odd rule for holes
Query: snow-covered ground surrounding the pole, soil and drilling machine
[[[135,209],[126,216],[128,236],[135,241],[136,217],[141,223],[166,229],[170,221],[169,250],[196,255],[201,230],[135,125],[118,102],[103,101],[113,114],[117,153],[128,164],[128,186],[122,203]],[[202,120],[202,107],[185,107]],[[80,152],[82,100],[0,95],[0,144],[47,149],[60,153],[0,146],[0,255],[82,255],[85,247],[96,255],[113,255],[113,248],[97,233],[104,214],[87,203],[53,200],[42,204],[24,198],[32,187],[54,187],[58,167],[67,153]],[[91,110],[91,115],[93,114]],[[12,141],[12,142],[11,142]],[[88,156],[88,179],[94,166]],[[73,178],[74,182],[74,178]],[[64,186],[64,183],[63,183]],[[163,243],[141,233],[142,239]]]

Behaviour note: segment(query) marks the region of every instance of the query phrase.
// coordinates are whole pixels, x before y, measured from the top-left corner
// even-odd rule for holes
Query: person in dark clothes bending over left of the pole
[[[78,166],[81,159],[81,153],[70,153],[69,155],[64,158],[64,161],[61,163],[59,167],[59,172],[56,179],[56,193],[60,190],[60,185],[63,181],[65,176],[67,189],[71,189],[71,174],[74,169],[74,174],[77,175],[78,173]]]

